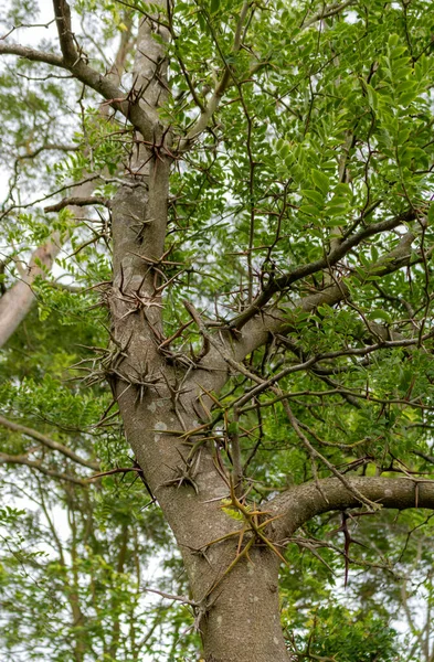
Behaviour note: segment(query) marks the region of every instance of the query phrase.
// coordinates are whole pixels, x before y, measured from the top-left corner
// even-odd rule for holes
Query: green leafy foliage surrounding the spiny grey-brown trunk
[[[38,21],[33,2],[9,4],[0,17],[4,34]],[[233,473],[234,455],[242,459],[247,514],[257,504],[266,510],[269,495],[287,487],[331,474],[430,477],[430,8],[425,0],[354,0],[329,13],[322,2],[286,0],[183,0],[169,11],[138,0],[73,7],[81,56],[100,76],[117,76],[127,99],[139,94],[130,73],[139,21],[152,15],[171,38],[171,94],[158,110],[170,146],[167,153],[152,147],[157,163],[172,159],[168,229],[163,256],[141,256],[158,266],[159,342],[172,338],[168,361],[195,370],[207,334],[231,329],[235,344],[260,308],[282,322],[277,331],[269,322],[267,340],[241,369],[231,365],[221,392],[201,394],[211,410],[199,425],[220,470]],[[55,33],[40,47],[57,52]],[[115,73],[114,54],[121,60]],[[0,488],[11,500],[0,510],[0,650],[10,660],[187,660],[198,649],[189,609],[144,598],[144,569],[155,558],[166,563],[162,590],[184,594],[187,579],[161,511],[144,510],[152,495],[113,397],[114,356],[121,361],[128,349],[116,341],[107,312],[113,202],[121,185],[133,197],[141,177],[134,169],[150,147],[110,108],[114,99],[102,104],[66,70],[53,75],[44,62],[2,57],[1,293],[25,278],[22,265],[38,247],[52,242],[60,250],[53,268],[35,259],[38,306],[2,352],[1,410],[84,463],[21,429],[0,430]],[[221,81],[224,94],[207,129],[191,137]],[[77,194],[93,200],[51,209]],[[154,218],[135,221],[140,239]],[[202,328],[184,300],[200,311]],[[144,308],[137,300],[131,306],[128,321]],[[148,360],[144,372],[154,377]],[[158,387],[166,384],[157,384],[157,394]],[[147,388],[137,388],[135,405]],[[174,410],[179,416],[176,399]],[[189,461],[203,444],[195,447],[190,436],[178,430]],[[184,465],[188,478],[169,481],[180,490],[183,482],[195,485]],[[231,524],[245,523],[233,500],[219,506]],[[430,517],[421,511],[396,520],[395,513],[358,515],[349,520],[350,538],[339,535],[345,520],[322,515],[289,540],[280,590],[288,650],[297,660],[428,661],[430,630],[426,642],[413,600],[423,585],[430,613]],[[65,517],[61,533],[56,521]],[[349,573],[350,608],[342,606],[336,573]],[[403,613],[410,652],[391,618]]]

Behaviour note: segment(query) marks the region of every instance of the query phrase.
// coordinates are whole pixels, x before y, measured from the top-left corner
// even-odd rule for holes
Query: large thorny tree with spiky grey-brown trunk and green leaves
[[[289,660],[286,547],[327,546],[309,523],[338,511],[347,577],[353,522],[434,506],[430,3],[53,8],[55,45],[13,29],[0,42],[8,145],[21,145],[1,340],[35,297],[42,312],[70,305],[56,255],[99,291],[108,344],[83,349],[86,382],[108,381],[174,534],[204,658]],[[42,212],[24,157],[53,149],[71,153],[42,199],[66,197]]]

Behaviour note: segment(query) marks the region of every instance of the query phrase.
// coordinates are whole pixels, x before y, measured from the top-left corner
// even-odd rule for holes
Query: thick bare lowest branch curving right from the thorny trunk
[[[434,509],[434,480],[381,477],[357,477],[347,480],[349,488],[337,478],[304,483],[267,502],[267,512],[279,517],[274,522],[275,540],[293,535],[299,526],[316,515],[359,508],[361,503],[356,492],[383,508]]]

